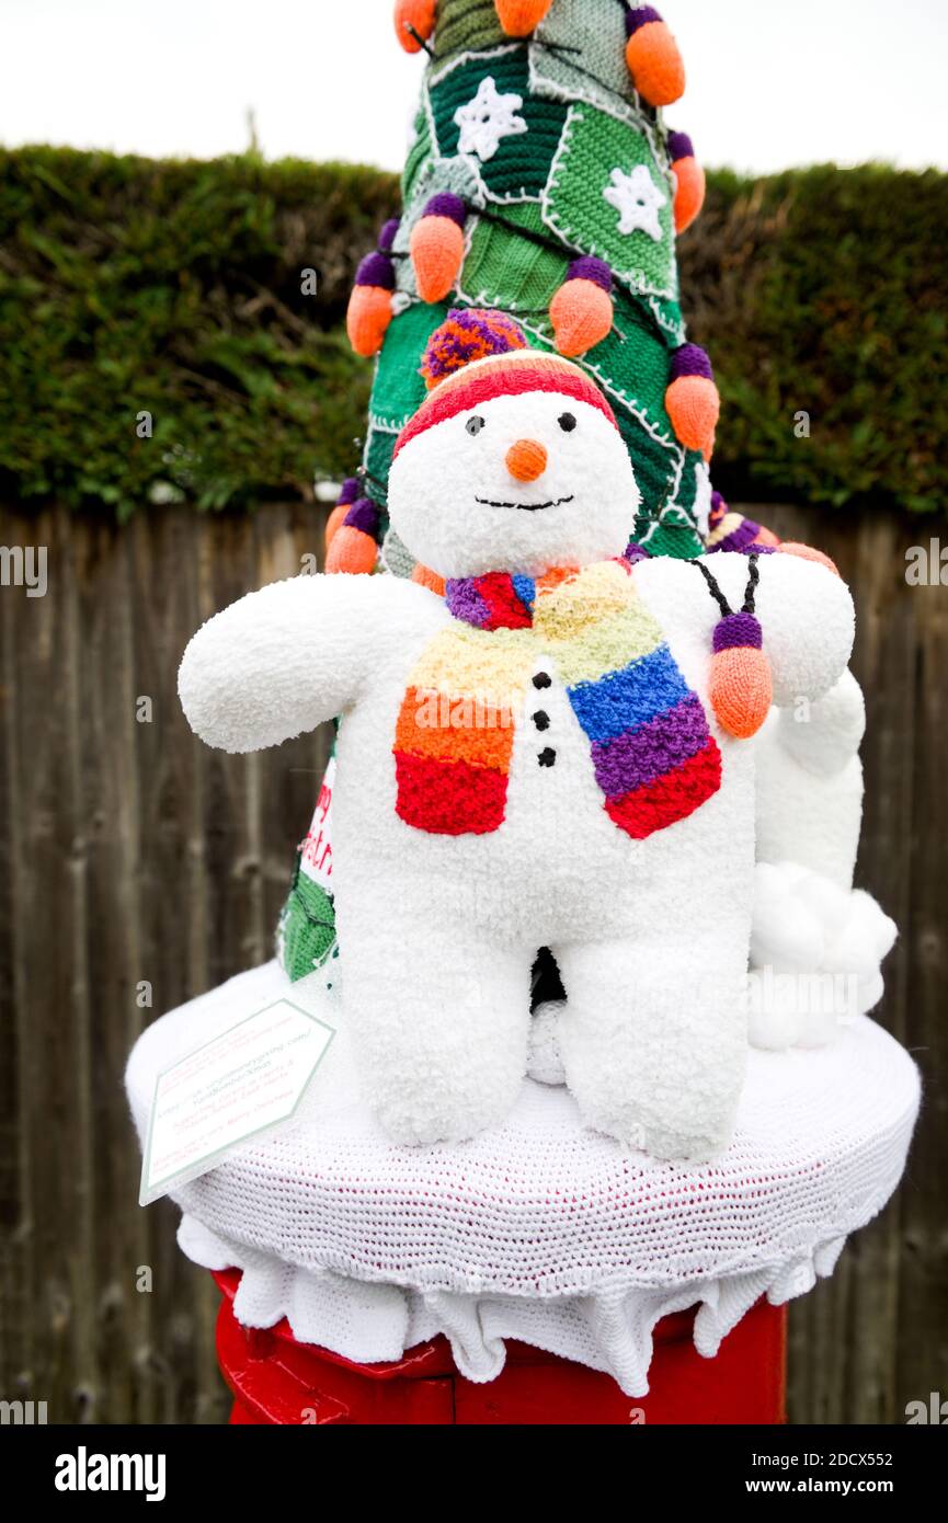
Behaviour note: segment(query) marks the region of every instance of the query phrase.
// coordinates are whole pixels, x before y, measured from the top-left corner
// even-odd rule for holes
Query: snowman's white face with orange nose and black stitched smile
[[[619,431],[558,391],[492,398],[434,423],[389,475],[395,533],[444,577],[607,560],[628,545],[637,506]]]

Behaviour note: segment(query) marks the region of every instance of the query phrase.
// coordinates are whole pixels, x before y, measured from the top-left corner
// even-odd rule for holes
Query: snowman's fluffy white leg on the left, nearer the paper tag
[[[343,1001],[360,1081],[398,1142],[456,1142],[504,1118],[523,1083],[532,952],[431,917],[346,920]]]

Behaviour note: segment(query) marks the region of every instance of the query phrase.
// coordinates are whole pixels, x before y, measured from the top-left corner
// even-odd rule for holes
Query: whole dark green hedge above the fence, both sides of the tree
[[[169,495],[306,493],[314,472],[344,472],[370,367],[341,318],[396,207],[392,175],[343,164],[0,152],[5,487],[123,516]],[[724,394],[725,493],[940,507],[946,247],[936,172],[710,177],[681,289]],[[151,439],[136,436],[142,411]]]

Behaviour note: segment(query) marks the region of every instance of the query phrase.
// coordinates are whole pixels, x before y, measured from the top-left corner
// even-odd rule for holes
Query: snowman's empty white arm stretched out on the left
[[[430,592],[396,577],[274,582],[194,635],[178,672],[181,708],[223,751],[279,745],[355,704],[436,608]]]

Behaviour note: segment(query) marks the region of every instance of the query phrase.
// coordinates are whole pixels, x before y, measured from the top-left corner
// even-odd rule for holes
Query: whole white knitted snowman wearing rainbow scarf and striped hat
[[[639,490],[610,404],[562,356],[492,353],[494,332],[460,369],[436,335],[393,454],[392,522],[445,595],[346,574],[264,588],[194,637],[181,704],[227,751],[343,716],[344,1017],[392,1138],[504,1116],[549,946],[584,1121],[707,1159],[747,1048],[747,737],[771,696],[838,679],[852,603],[791,556],[629,559]]]

